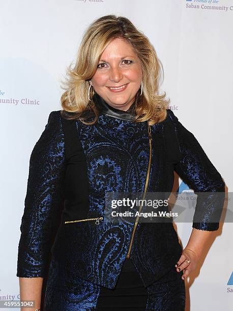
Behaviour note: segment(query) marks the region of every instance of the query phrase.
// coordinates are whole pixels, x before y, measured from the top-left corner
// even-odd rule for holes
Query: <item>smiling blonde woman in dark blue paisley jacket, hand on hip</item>
[[[30,159],[18,250],[21,300],[41,307],[51,251],[46,311],[184,310],[184,280],[219,227],[224,182],[166,109],[155,50],[127,18],[94,21],[68,76],[63,110],[50,113]],[[184,250],[171,222],[106,221],[106,192],[170,193],[174,171],[196,192],[222,194],[197,199]]]

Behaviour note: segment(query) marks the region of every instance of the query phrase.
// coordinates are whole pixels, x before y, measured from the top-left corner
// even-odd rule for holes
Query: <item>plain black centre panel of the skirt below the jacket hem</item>
[[[148,291],[130,259],[125,259],[114,289],[101,287],[97,300],[97,311],[140,310],[147,306]]]

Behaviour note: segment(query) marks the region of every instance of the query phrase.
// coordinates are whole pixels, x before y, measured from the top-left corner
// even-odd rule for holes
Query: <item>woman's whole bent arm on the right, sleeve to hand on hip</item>
[[[181,153],[181,160],[174,165],[174,170],[197,194],[192,233],[176,265],[177,271],[185,268],[183,277],[187,277],[195,268],[213,231],[219,228],[225,183],[194,135],[179,122],[172,111],[169,116],[173,121]],[[185,260],[190,260],[191,263],[188,264]]]

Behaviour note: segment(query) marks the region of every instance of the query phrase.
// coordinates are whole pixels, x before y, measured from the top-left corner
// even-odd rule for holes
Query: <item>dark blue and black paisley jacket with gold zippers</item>
[[[179,260],[182,246],[177,233],[172,223],[139,222],[133,234],[133,223],[106,222],[105,192],[143,192],[149,177],[148,192],[170,193],[176,171],[194,192],[222,193],[220,201],[208,197],[203,206],[197,199],[195,207],[202,218],[192,227],[213,231],[219,223],[207,220],[213,213],[220,219],[224,182],[171,110],[164,121],[150,127],[150,134],[148,122],[133,122],[130,109],[114,109],[97,95],[96,103],[100,114],[94,125],[68,121],[61,111],[52,111],[32,151],[17,276],[44,277],[51,252],[67,282],[75,284],[75,278],[81,277],[112,289],[128,254],[147,287]],[[75,126],[70,137],[65,135],[69,126]],[[68,143],[77,146],[76,161],[82,170],[75,173],[75,186],[64,181],[67,170],[73,168],[72,154],[66,152]],[[63,200],[61,224],[53,241]]]

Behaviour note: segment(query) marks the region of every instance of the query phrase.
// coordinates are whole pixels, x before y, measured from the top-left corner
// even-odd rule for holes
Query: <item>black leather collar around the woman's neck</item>
[[[94,101],[98,106],[98,109],[101,113],[109,115],[113,118],[118,118],[122,120],[128,120],[128,121],[134,121],[135,120],[135,114],[133,113],[133,107],[135,105],[135,102],[130,106],[130,108],[126,111],[121,109],[116,109],[108,105],[105,100],[95,93],[94,95]]]

